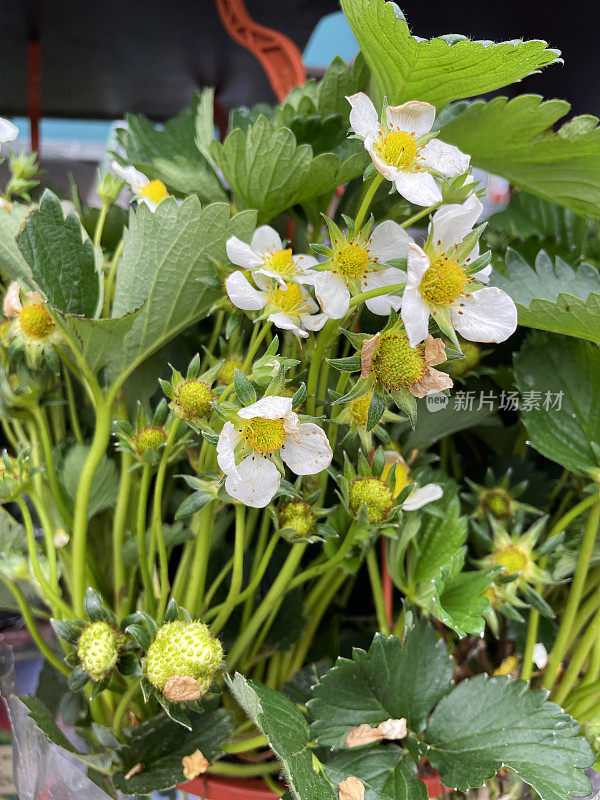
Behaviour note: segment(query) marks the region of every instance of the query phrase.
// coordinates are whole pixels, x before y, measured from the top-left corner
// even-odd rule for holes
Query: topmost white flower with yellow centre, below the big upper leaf
[[[352,106],[350,125],[364,139],[365,149],[384,178],[415,205],[441,203],[442,193],[434,175],[462,175],[469,167],[470,156],[431,137],[435,107],[417,100],[388,106],[380,123],[366,94],[358,92],[346,99]]]

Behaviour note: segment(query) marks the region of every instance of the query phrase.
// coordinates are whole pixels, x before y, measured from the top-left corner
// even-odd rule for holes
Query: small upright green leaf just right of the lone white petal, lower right
[[[467,540],[467,518],[460,515],[456,494],[444,492],[419,514],[421,527],[415,539],[418,555],[412,575],[417,582],[437,578],[441,568],[451,563]]]

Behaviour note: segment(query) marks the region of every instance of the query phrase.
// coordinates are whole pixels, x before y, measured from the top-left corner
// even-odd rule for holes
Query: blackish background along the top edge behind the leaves
[[[247,0],[257,22],[286,33],[302,50],[336,0]],[[542,38],[563,52],[518,91],[564,97],[576,113],[600,111],[598,11],[575,0],[431,2],[402,5],[413,33],[463,33],[501,41]],[[27,114],[26,52],[39,34],[42,113],[47,117],[155,119],[176,114],[195,88],[214,85],[222,106],[273,100],[255,58],[229,38],[212,0],[46,0],[0,2],[0,114]],[[514,91],[514,89],[513,89]]]

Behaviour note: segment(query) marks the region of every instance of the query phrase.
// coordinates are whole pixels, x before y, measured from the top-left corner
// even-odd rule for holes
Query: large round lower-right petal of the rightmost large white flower
[[[517,329],[517,308],[495,286],[461,297],[451,311],[452,324],[471,342],[503,342]]]

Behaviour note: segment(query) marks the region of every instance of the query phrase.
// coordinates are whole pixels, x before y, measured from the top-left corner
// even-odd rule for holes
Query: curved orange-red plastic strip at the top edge
[[[215,0],[215,4],[231,38],[260,62],[279,102],[294,86],[306,82],[302,54],[291,39],[255,22],[244,0]]]

